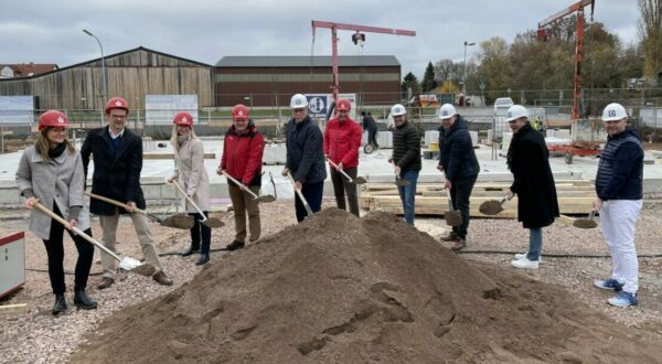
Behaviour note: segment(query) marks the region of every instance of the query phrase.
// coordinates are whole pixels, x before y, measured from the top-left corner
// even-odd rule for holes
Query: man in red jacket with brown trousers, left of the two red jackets
[[[236,185],[227,181],[227,190],[235,216],[235,239],[225,248],[227,250],[241,249],[246,239],[246,213],[248,213],[248,228],[250,242],[260,235],[259,206],[253,196],[245,192],[249,189],[259,194],[261,186],[261,162],[265,150],[265,139],[248,118],[248,108],[242,104],[232,109],[232,126],[225,132],[223,156],[217,174],[223,172],[232,175],[244,185]]]

